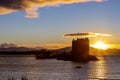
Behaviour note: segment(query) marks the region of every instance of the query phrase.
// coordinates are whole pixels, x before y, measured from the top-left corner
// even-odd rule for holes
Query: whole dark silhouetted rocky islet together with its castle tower
[[[37,54],[37,59],[52,59],[68,60],[75,62],[86,62],[90,60],[98,60],[95,56],[89,54],[89,39],[73,39],[72,51],[54,54],[53,52],[41,51],[41,54]],[[51,55],[52,54],[52,55]]]

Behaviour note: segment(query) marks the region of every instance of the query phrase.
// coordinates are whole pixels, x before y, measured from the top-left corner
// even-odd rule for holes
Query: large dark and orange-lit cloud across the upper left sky
[[[27,18],[38,18],[38,9],[46,6],[60,4],[73,4],[83,2],[103,2],[106,0],[0,0],[0,15],[17,11],[25,11]]]

